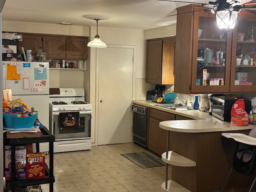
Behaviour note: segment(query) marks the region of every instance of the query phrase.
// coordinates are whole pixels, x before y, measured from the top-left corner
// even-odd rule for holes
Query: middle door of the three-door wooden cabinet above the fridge
[[[60,36],[43,37],[46,58],[66,58],[66,38]]]

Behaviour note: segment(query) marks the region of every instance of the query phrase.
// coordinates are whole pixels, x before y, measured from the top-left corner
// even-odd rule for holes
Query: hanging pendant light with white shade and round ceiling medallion
[[[104,42],[100,40],[100,36],[98,35],[98,21],[99,20],[107,20],[109,19],[108,16],[102,16],[102,15],[85,15],[85,18],[96,20],[97,22],[97,34],[94,37],[94,40],[91,42],[88,42],[88,47],[98,47],[98,48],[105,48],[107,47]]]

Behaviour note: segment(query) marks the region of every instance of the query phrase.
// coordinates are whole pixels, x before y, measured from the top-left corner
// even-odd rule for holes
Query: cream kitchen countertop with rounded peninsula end
[[[200,132],[223,132],[235,130],[248,130],[254,128],[254,125],[249,126],[232,126],[230,122],[224,122],[214,116],[210,116],[207,112],[200,112],[200,110],[184,110],[176,111],[162,108],[158,103],[151,100],[134,100],[133,104],[140,104],[150,108],[170,112],[172,114],[193,118],[194,120],[170,120],[160,122],[160,128],[175,132],[184,133],[200,133]]]

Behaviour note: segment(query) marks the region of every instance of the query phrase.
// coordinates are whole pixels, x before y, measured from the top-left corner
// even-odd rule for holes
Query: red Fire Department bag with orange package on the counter
[[[248,126],[249,115],[245,110],[245,104],[243,99],[238,99],[234,102],[231,108],[231,125]]]

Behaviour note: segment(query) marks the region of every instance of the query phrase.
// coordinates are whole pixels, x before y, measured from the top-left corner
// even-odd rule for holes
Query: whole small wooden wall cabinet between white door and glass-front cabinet
[[[175,41],[175,36],[147,41],[146,82],[174,84]]]

